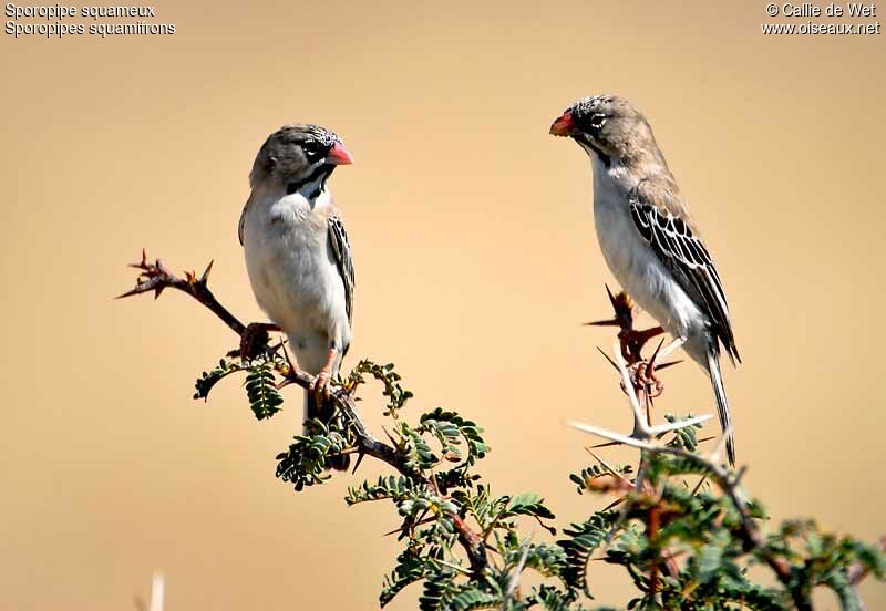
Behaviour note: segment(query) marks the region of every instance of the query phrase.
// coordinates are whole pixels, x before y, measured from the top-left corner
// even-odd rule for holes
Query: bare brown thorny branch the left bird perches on
[[[132,263],[130,267],[140,270],[136,284],[132,290],[119,296],[117,299],[152,291],[154,292],[154,299],[156,299],[164,289],[177,289],[189,294],[197,300],[197,302],[206,307],[238,336],[243,336],[246,332],[247,325],[231,314],[227,308],[222,306],[207,286],[209,272],[213,269],[212,261],[206,266],[206,270],[199,278],[197,278],[197,275],[193,271],[187,271],[185,272],[185,278],[179,278],[169,271],[162,259],[156,259],[154,262],[148,261],[144,249],[142,249],[142,260],[137,263]],[[315,376],[308,372],[288,367],[286,371],[280,371],[280,373],[292,384],[308,391],[313,389]],[[405,460],[398,454],[396,449],[372,436],[357,412],[354,398],[348,392],[342,389],[337,389],[331,393],[329,401],[336,404],[347,421],[347,424],[350,425],[354,432],[357,445],[352,448],[348,448],[346,451],[347,453],[357,453],[360,459],[362,459],[364,455],[372,456],[373,458],[387,463],[402,475],[412,477],[424,485],[433,487],[433,483],[423,474],[406,466]],[[360,460],[357,463],[357,466],[359,465]],[[455,530],[457,531],[459,542],[467,553],[471,570],[480,576],[488,563],[486,548],[482,538],[465,522],[462,516],[450,514],[449,517],[452,519]]]

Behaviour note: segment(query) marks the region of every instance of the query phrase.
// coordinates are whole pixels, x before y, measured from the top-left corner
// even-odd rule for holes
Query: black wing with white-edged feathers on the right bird
[[[674,201],[669,201],[673,199]],[[732,333],[727,296],[710,252],[696,235],[679,196],[641,180],[629,196],[630,215],[643,240],[677,281],[708,314],[715,335],[733,363],[741,362]],[[686,218],[684,218],[686,217]]]

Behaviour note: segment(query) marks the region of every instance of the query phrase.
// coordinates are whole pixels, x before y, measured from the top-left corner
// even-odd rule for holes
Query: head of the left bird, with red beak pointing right
[[[336,166],[353,163],[334,133],[319,125],[285,125],[268,136],[256,156],[249,184],[316,197]],[[309,197],[310,198],[310,197]]]

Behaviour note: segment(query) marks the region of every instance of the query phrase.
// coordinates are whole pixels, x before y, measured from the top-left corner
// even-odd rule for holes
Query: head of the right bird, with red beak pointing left
[[[588,155],[595,153],[607,158],[631,157],[655,145],[646,117],[618,95],[579,100],[554,121],[550,133],[573,138]]]

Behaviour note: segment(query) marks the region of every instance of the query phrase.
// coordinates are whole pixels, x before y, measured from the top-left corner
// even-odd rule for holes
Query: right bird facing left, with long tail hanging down
[[[725,292],[652,127],[618,95],[584,97],[550,125],[590,157],[594,224],[612,275],[710,376],[730,465],[735,441],[720,367],[741,362]]]

